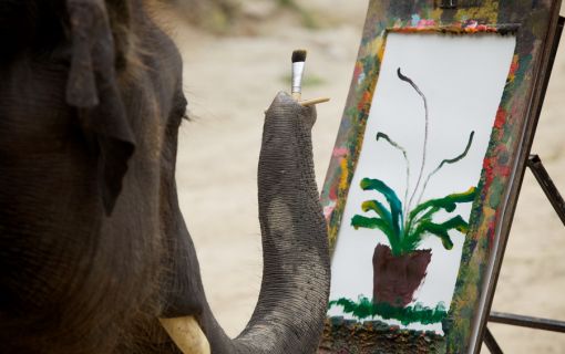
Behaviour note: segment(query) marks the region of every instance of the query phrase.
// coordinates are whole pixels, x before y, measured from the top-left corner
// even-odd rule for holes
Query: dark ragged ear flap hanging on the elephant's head
[[[117,86],[114,39],[103,0],[66,0],[66,10],[71,33],[66,103],[78,108],[82,127],[93,136],[99,188],[110,216],[135,150]]]

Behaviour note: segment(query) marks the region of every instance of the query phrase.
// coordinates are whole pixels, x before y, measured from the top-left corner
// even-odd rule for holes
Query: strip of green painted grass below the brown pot
[[[386,302],[373,303],[364,296],[359,296],[357,302],[346,298],[330,301],[328,309],[333,306],[342,306],[343,313],[351,314],[359,320],[379,315],[384,320],[398,320],[403,325],[417,322],[421,324],[440,323],[448,315],[443,303],[439,303],[434,309],[425,308],[420,303],[414,306],[396,308]]]

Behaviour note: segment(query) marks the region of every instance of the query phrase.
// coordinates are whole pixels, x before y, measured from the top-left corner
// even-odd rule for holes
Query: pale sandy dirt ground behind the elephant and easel
[[[314,129],[316,173],[321,188],[368,0],[299,1],[314,13],[314,20],[279,12],[273,2],[246,0],[242,23],[229,35],[212,35],[185,21],[168,20],[184,58],[185,92],[193,117],[182,127],[179,142],[177,181],[182,209],[196,243],[207,296],[219,322],[233,336],[251,315],[261,279],[256,169],[263,111],[277,91],[288,90],[292,50],[308,49],[304,96],[332,98],[319,105]],[[305,22],[315,29],[300,25]],[[533,147],[565,192],[563,97],[565,43],[556,60]],[[565,320],[564,250],[563,225],[528,173],[493,309]],[[506,353],[565,353],[565,334],[491,327]]]

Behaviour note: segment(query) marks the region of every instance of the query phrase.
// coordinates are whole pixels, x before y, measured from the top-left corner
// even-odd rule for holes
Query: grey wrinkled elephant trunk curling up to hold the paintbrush
[[[246,329],[229,340],[209,309],[201,319],[212,353],[315,353],[330,284],[327,227],[314,175],[314,107],[280,93],[266,113],[259,157],[264,269]]]

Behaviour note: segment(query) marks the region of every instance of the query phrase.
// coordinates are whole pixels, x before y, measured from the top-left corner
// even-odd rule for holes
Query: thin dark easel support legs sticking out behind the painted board
[[[559,45],[559,39],[563,33],[564,23],[565,18],[559,17],[559,20],[557,22],[556,35],[552,46],[548,70],[546,71],[546,75],[543,81],[542,97],[545,97],[545,93],[547,91],[547,85],[549,83],[551,72],[553,69],[553,64],[555,62],[555,56],[557,55],[557,48]],[[540,110],[536,112],[537,114],[536,118],[540,117],[541,111],[542,110],[540,106]],[[553,183],[552,178],[547,174],[547,170],[543,166],[542,160],[537,155],[530,155],[526,162],[526,166],[534,174],[536,180],[540,183],[540,186],[542,187],[543,191],[545,192],[545,195],[549,199],[549,202],[555,209],[555,212],[557,214],[563,225],[565,226],[565,201],[563,200],[559,191],[555,187],[555,184]],[[542,331],[565,333],[565,321],[538,319],[510,313],[491,312],[489,316],[489,322],[516,325]],[[499,343],[496,343],[496,340],[494,339],[492,332],[489,330],[487,326],[484,330],[483,342],[492,354],[503,354],[502,348],[500,347]]]

